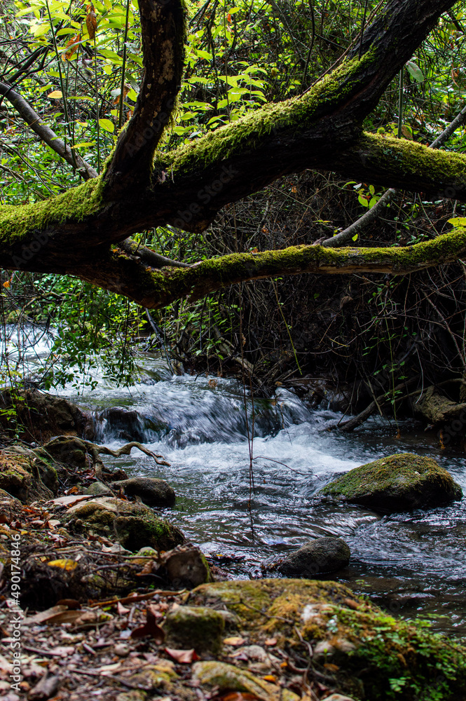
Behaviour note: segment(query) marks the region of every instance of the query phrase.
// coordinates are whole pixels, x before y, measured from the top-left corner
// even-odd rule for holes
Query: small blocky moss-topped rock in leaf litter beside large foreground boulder
[[[218,611],[205,606],[179,606],[167,613],[163,629],[167,635],[165,644],[169,648],[196,653],[212,653],[221,649],[225,621]]]

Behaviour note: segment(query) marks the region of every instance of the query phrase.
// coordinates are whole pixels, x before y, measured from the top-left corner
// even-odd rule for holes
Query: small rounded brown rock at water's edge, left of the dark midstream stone
[[[178,545],[160,557],[168,580],[175,587],[192,589],[212,581],[205,555],[194,545]]]

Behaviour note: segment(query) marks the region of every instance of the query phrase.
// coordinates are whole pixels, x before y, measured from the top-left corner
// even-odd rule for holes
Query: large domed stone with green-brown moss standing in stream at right
[[[346,472],[327,484],[323,496],[391,513],[459,500],[462,491],[432,458],[399,453]]]

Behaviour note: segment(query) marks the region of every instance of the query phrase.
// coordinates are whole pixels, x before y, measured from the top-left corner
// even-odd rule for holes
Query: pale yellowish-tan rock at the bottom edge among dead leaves
[[[261,701],[299,701],[299,696],[287,689],[259,679],[246,669],[226,662],[196,662],[193,677],[201,686],[216,687],[221,694],[228,691],[248,693]]]

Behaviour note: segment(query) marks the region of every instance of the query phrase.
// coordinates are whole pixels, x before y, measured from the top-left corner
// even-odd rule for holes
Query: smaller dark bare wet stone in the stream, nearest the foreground
[[[278,569],[287,577],[312,579],[317,574],[336,572],[348,566],[351,552],[341,538],[315,538],[290,552]]]

